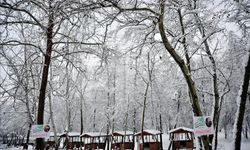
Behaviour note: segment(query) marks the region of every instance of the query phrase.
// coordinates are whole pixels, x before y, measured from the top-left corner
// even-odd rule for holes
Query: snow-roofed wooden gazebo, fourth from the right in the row
[[[89,132],[81,135],[85,150],[105,149],[107,134],[100,132]]]

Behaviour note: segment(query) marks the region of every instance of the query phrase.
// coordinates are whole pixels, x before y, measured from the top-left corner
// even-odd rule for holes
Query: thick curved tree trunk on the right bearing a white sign
[[[170,55],[174,58],[175,62],[178,64],[178,66],[180,67],[185,80],[188,84],[188,88],[189,88],[189,92],[191,95],[191,103],[192,103],[192,108],[193,108],[193,112],[194,115],[196,116],[202,116],[202,111],[200,108],[200,104],[199,104],[199,99],[198,99],[198,94],[196,91],[196,86],[195,83],[191,77],[191,73],[188,69],[187,64],[184,62],[184,60],[177,54],[177,52],[175,51],[175,49],[171,46],[171,44],[169,43],[166,33],[165,33],[165,29],[164,29],[164,7],[165,7],[165,0],[161,0],[160,1],[160,16],[159,16],[159,23],[158,23],[158,27],[159,27],[159,31],[161,34],[161,38],[162,38],[162,42],[166,48],[166,50],[170,53]],[[202,136],[202,142],[203,142],[203,146],[205,150],[210,150],[211,149],[211,145],[209,144],[209,140],[207,136]]]

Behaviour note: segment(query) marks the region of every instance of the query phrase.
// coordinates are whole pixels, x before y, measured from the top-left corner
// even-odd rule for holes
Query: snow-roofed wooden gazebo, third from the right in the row
[[[132,131],[115,131],[111,139],[112,150],[133,150],[134,133]]]

